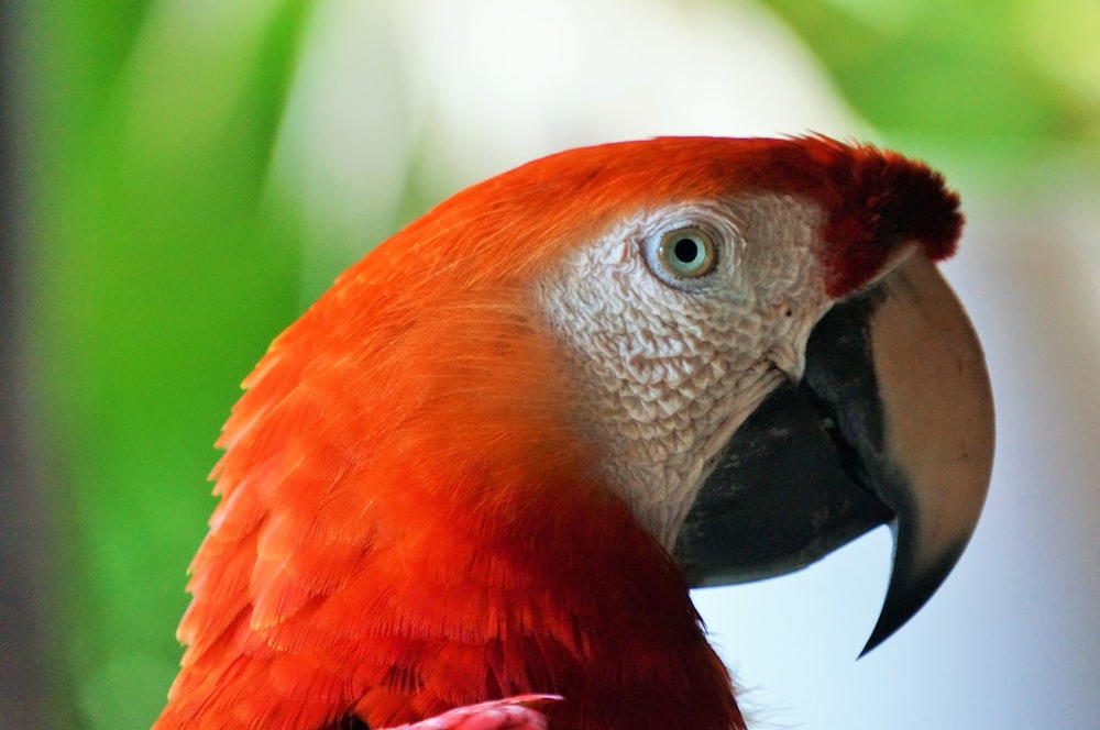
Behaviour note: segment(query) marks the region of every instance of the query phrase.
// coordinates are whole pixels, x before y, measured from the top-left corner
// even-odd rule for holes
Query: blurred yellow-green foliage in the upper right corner
[[[849,102],[893,137],[979,143],[1001,152],[1100,139],[1100,97],[1052,75],[1033,53],[1058,51],[1040,37],[1030,0],[766,4],[817,54]],[[1044,16],[1074,12],[1059,2],[1042,9]],[[1098,11],[1077,15],[1097,24]],[[1072,23],[1070,14],[1063,24]],[[1067,63],[1078,48],[1063,48]]]

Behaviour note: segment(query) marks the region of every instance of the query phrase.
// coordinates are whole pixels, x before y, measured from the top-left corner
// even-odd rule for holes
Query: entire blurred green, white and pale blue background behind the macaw
[[[855,661],[880,530],[698,591],[756,728],[1100,727],[1100,3],[0,3],[0,728],[145,728],[238,384],[352,261],[563,147],[807,130],[944,170],[987,511]]]

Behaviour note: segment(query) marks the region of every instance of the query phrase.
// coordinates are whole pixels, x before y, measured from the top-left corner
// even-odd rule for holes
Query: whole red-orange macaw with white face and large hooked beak
[[[440,203],[245,379],[154,728],[744,728],[690,588],[889,524],[869,650],[974,530],[961,225],[937,173],[822,136],[572,150]]]

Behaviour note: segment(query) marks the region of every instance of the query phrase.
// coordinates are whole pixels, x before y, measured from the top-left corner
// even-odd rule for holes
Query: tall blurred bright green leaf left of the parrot
[[[80,722],[147,727],[234,387],[297,310],[264,180],[309,3],[36,5],[37,396]],[[165,565],[175,569],[165,569]]]

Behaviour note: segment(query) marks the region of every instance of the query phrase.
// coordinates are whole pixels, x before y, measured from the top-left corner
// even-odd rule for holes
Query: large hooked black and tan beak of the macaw
[[[981,346],[917,251],[822,318],[801,383],[778,388],[738,429],[673,554],[693,587],[741,583],[805,567],[889,524],[893,569],[866,654],[954,567],[992,461]]]

